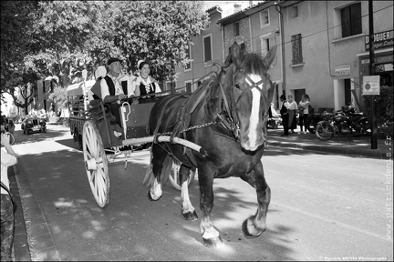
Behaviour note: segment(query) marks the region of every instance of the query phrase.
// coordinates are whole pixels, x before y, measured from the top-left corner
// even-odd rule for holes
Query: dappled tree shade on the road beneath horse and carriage
[[[72,138],[56,141],[78,147]],[[213,223],[226,244],[204,247],[201,216],[198,221],[181,218],[180,191],[168,184],[163,187],[160,201],[148,200],[142,179],[149,157],[139,157],[126,169],[121,162],[109,164],[110,202],[108,207],[100,208],[93,199],[80,153],[58,150],[22,156],[21,165],[33,192],[21,196],[25,200],[29,243],[33,243],[31,251],[35,254],[32,258],[54,258],[54,249],[48,248],[44,240],[49,235],[60,258],[68,260],[292,260],[293,250],[285,240],[291,227],[268,227],[253,239],[243,236],[242,222],[257,207],[253,187],[243,182],[249,188],[245,194],[244,187],[227,186],[226,179],[214,186]],[[36,172],[32,172],[33,167]],[[190,196],[199,211],[197,181],[190,188]],[[36,215],[39,211],[30,201],[32,197],[45,219]],[[43,219],[50,234],[42,229]]]

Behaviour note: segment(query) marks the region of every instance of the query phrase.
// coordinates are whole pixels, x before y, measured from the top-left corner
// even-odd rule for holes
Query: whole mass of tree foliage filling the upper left
[[[162,81],[189,62],[208,15],[202,1],[2,1],[1,22],[1,90],[11,94],[35,78],[57,76],[66,87],[87,69],[91,79],[110,56],[128,72],[146,60]]]

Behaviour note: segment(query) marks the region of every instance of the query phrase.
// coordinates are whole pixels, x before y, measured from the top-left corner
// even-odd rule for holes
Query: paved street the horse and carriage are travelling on
[[[268,147],[267,231],[243,236],[241,224],[256,210],[255,191],[239,178],[217,179],[213,222],[226,245],[207,248],[200,220],[181,218],[180,191],[168,185],[160,201],[147,199],[147,151],[135,153],[126,169],[109,165],[110,203],[101,209],[67,127],[30,136],[16,131],[16,141],[16,181],[33,260],[393,259],[388,160]],[[190,191],[199,210],[198,181]]]

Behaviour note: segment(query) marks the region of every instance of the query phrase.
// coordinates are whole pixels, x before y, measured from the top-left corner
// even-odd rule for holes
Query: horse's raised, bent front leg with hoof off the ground
[[[241,177],[251,186],[254,186],[257,193],[257,212],[254,216],[247,218],[242,226],[244,237],[252,238],[260,236],[266,229],[266,214],[271,200],[271,189],[265,181],[264,169],[261,161],[254,166],[254,170]]]

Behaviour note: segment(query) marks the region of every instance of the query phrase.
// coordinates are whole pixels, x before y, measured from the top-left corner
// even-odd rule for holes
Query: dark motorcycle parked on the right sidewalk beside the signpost
[[[356,112],[352,106],[342,106],[335,114],[323,113],[323,120],[316,125],[316,136],[321,140],[338,136],[359,136],[370,133],[368,117],[364,113]]]

